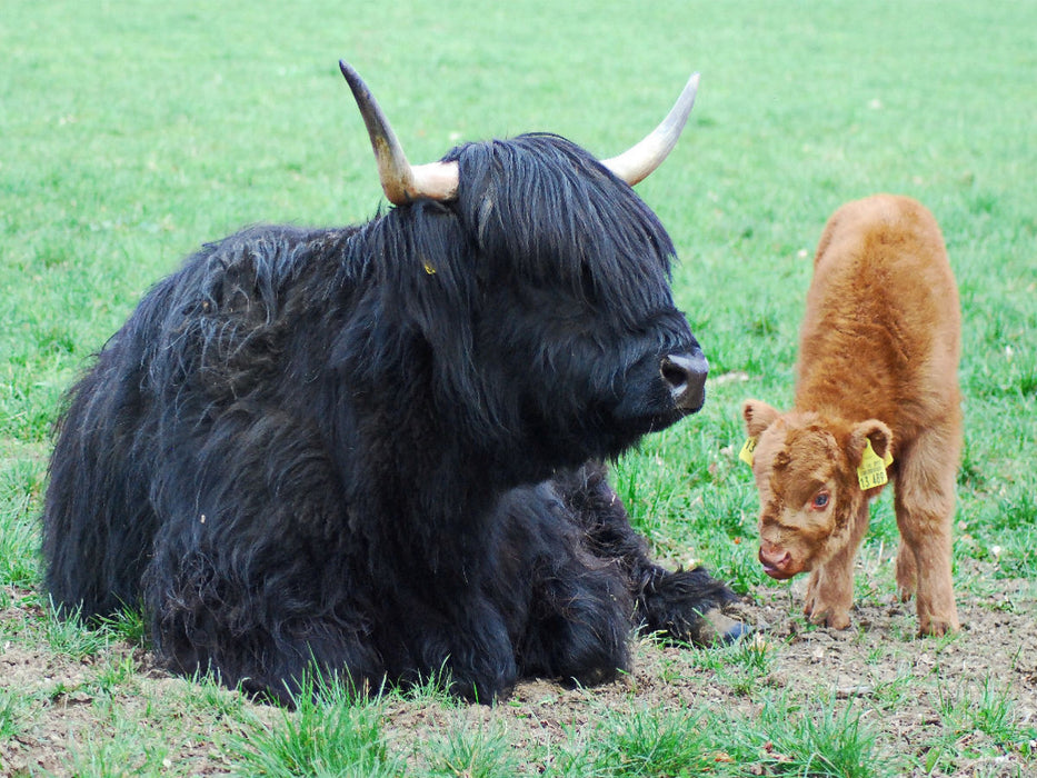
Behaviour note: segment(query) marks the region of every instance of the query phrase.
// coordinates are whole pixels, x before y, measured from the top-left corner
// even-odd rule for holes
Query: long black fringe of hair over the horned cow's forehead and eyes
[[[458,212],[482,256],[506,258],[530,280],[559,275],[575,293],[590,283],[610,316],[635,323],[670,303],[676,257],[656,215],[634,190],[577,146],[549,133],[459,147]],[[501,186],[505,183],[507,186]],[[639,265],[649,283],[632,283]]]

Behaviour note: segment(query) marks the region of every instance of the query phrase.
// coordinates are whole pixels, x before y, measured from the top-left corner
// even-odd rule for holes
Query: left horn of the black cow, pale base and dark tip
[[[371,147],[375,149],[375,160],[378,162],[378,177],[389,202],[402,206],[419,197],[433,200],[450,200],[457,197],[457,162],[418,166],[408,162],[403,147],[397,140],[371,90],[349,64],[339,60],[339,68],[357,100],[363,123],[367,124]]]

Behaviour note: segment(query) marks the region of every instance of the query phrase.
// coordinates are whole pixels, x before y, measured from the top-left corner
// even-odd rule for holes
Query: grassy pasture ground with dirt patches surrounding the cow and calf
[[[0,774],[1037,774],[1037,2],[351,4],[4,3]],[[50,617],[37,527],[50,427],[90,355],[201,242],[381,206],[339,58],[412,161],[527,130],[608,156],[701,71],[684,139],[638,191],[682,259],[675,293],[710,398],[615,478],[656,552],[731,581],[770,615],[769,637],[641,640],[626,684],[537,682],[492,709],[433,688],[355,705],[331,688],[288,714],[154,670],[133,619]],[[961,291],[954,555],[971,626],[941,640],[913,640],[909,611],[887,618],[888,495],[855,627],[795,621],[800,600],[755,561],[737,461],[741,400],[791,399],[825,220],[877,191],[933,210]],[[867,692],[840,680],[879,667]]]

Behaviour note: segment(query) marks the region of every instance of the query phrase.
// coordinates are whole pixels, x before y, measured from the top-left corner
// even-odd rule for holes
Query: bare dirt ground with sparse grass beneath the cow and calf
[[[742,606],[745,618],[761,626],[754,638],[759,664],[645,639],[634,672],[600,688],[535,680],[495,707],[393,698],[386,707],[390,744],[420,761],[421,742],[459,727],[493,728],[529,755],[529,774],[550,774],[557,755],[581,742],[592,747],[609,711],[722,711],[754,720],[784,696],[804,709],[822,700],[852,709],[877,735],[880,752],[910,775],[1031,775],[1037,744],[999,742],[984,711],[1000,705],[1014,731],[1027,737],[1037,727],[1035,585],[998,580],[990,570],[958,571],[974,576],[981,586],[959,592],[964,628],[953,638],[916,638],[910,604],[865,602],[848,630],[810,627],[799,615],[797,581],[760,589]],[[275,724],[280,716],[230,692],[219,704],[200,702],[196,685],[157,669],[139,648],[116,645],[83,659],[57,654],[31,637],[40,617],[13,594],[0,611],[0,775],[71,775],[73,760],[81,765],[91,752],[126,759],[129,774],[159,765],[178,775],[227,775],[235,771],[226,748],[238,727],[233,714]],[[139,755],[106,751],[108,739],[124,742],[127,731]],[[164,750],[156,755],[158,748]],[[745,774],[767,775],[751,765]]]

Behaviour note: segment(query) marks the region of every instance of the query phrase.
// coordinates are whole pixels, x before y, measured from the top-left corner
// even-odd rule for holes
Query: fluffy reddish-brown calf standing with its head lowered
[[[878,194],[835,212],[814,260],[799,348],[795,408],[742,408],[756,439],[760,562],[778,579],[810,571],[807,616],[849,626],[854,557],[868,503],[884,488],[858,482],[870,442],[878,457],[893,457],[898,592],[917,597],[920,632],[958,629],[950,529],[960,313],[929,211]]]

